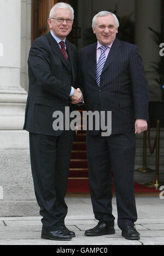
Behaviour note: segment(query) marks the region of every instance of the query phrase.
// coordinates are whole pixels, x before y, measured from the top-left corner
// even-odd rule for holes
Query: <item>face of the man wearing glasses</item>
[[[64,20],[62,23],[59,23],[57,21],[57,18],[73,20],[73,15],[71,10],[69,8],[56,8],[54,10],[54,16],[51,18],[55,18],[55,19],[48,19],[48,24],[53,34],[58,38],[60,38],[61,40],[65,39],[65,37],[68,36],[68,34],[72,30],[73,22],[67,23],[66,20]]]

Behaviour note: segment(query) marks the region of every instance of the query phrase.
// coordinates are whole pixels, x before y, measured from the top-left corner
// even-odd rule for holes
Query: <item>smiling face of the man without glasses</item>
[[[115,40],[116,33],[118,33],[114,17],[110,14],[108,16],[98,16],[93,33],[102,45],[107,46],[112,43]]]

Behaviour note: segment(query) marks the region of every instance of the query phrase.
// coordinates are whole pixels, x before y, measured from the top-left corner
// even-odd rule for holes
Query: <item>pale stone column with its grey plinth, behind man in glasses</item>
[[[21,87],[21,0],[0,1],[0,216],[38,213],[24,125]]]

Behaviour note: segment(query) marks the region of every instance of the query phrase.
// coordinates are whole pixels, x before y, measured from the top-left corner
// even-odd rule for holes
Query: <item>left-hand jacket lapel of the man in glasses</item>
[[[52,51],[57,55],[58,58],[61,59],[61,62],[66,66],[66,68],[68,69],[68,66],[67,66],[67,62],[66,62],[66,59],[65,57],[63,56],[62,52],[61,52],[61,49],[60,47],[58,46],[58,43],[56,42],[56,40],[52,37],[51,33],[49,32],[47,34],[48,36],[48,41],[49,41],[49,44],[51,46],[51,49]]]

